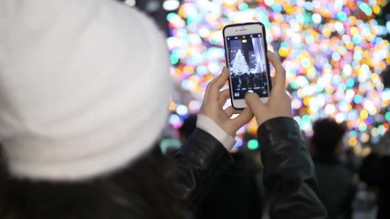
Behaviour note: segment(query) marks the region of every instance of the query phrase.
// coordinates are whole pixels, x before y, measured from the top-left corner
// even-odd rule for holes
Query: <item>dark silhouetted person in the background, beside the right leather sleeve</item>
[[[329,218],[350,218],[353,201],[353,174],[338,156],[343,151],[346,127],[331,118],[313,123],[311,147],[313,161],[321,192],[321,201]]]

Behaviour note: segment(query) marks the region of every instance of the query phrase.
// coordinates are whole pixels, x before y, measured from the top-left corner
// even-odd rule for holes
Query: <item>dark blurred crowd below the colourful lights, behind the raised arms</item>
[[[178,129],[182,142],[195,124],[196,115],[184,119]],[[348,146],[344,123],[324,118],[315,120],[312,127],[311,136],[301,134],[311,151],[321,202],[329,218],[389,218],[390,131],[370,146],[368,154],[358,156]],[[254,136],[247,133],[243,139],[243,144],[231,151],[234,162],[216,180],[198,218],[269,218],[260,151],[248,149]]]

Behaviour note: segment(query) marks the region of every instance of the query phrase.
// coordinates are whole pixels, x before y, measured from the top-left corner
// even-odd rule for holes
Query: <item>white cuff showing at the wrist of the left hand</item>
[[[211,120],[205,115],[197,115],[196,127],[211,134],[217,141],[224,145],[227,151],[230,151],[236,144],[236,140],[233,136],[228,135],[227,132],[222,130],[214,120]]]

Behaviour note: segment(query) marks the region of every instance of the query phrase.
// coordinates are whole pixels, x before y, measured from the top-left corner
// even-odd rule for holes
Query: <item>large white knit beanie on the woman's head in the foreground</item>
[[[168,50],[114,0],[0,1],[0,141],[16,177],[77,181],[151,149],[168,113]]]

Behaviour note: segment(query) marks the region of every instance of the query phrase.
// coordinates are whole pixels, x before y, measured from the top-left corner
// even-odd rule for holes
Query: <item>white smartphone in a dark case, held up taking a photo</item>
[[[262,102],[267,102],[271,83],[264,25],[260,22],[228,25],[223,36],[232,107],[246,108],[247,92],[256,92]]]

